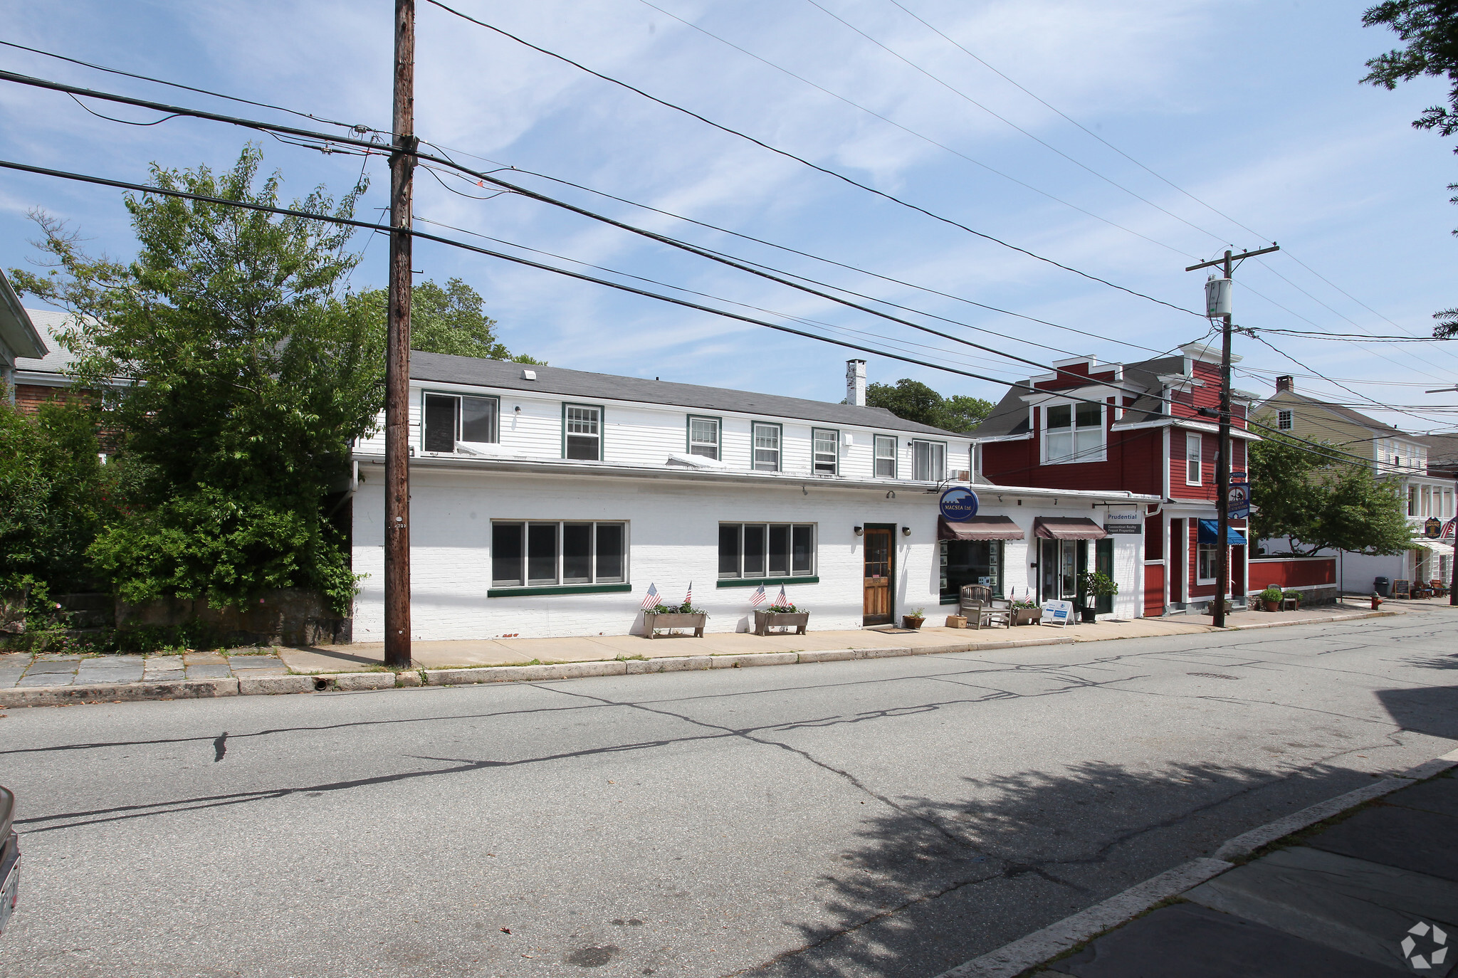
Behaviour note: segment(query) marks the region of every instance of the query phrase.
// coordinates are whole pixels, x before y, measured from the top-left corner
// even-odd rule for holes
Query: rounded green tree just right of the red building
[[[1400,554],[1411,542],[1407,509],[1392,481],[1360,462],[1336,462],[1336,446],[1267,434],[1251,446],[1255,539],[1284,538],[1292,554],[1344,549]]]

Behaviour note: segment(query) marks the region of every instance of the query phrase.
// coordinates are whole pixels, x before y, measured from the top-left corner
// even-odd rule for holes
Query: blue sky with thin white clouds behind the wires
[[[1452,275],[1458,240],[1449,233],[1458,226],[1458,208],[1446,203],[1445,189],[1458,179],[1452,147],[1408,125],[1424,106],[1443,99],[1442,85],[1424,80],[1395,92],[1357,85],[1363,61],[1395,41],[1391,32],[1362,28],[1363,3],[653,4],[658,9],[644,0],[452,3],[819,166],[1177,306],[1200,309],[1203,302],[1204,275],[1185,273],[1185,265],[1226,245],[1255,248],[1271,239],[1286,251],[1248,261],[1236,275],[1238,324],[1422,337],[1430,334],[1436,309],[1458,305]],[[335,120],[389,125],[392,4],[385,0],[12,0],[6,7],[6,39],[19,44]],[[1069,354],[1130,361],[1150,356],[1140,347],[1161,351],[1206,334],[1198,316],[876,198],[424,0],[417,58],[417,131],[462,162],[471,162],[469,153],[535,171],[1092,335],[518,176],[601,213],[911,306],[926,313],[913,319],[1041,363]],[[12,48],[0,48],[0,66],[163,102],[289,120]],[[92,108],[136,121],[156,118],[130,108]],[[0,154],[13,160],[140,182],[153,160],[226,168],[249,138],[261,138],[265,168],[283,172],[290,195],[303,197],[319,182],[343,192],[359,173],[357,157],[321,156],[239,128],[190,120],[120,125],[87,115],[64,95],[0,87]],[[383,160],[372,159],[367,166],[373,187],[364,216],[385,203],[388,187]],[[751,313],[761,318],[808,318],[825,324],[808,326],[825,335],[993,377],[1035,372],[518,195],[467,200],[420,173],[416,201],[421,219],[777,313]],[[35,236],[29,208],[64,219],[95,251],[125,257],[134,248],[120,192],[6,172],[0,173],[0,264],[7,268],[34,255],[26,243]],[[359,246],[364,243],[364,236],[357,239]],[[369,243],[357,286],[383,283],[385,254],[383,240]],[[831,345],[442,245],[421,242],[416,255],[426,277],[458,275],[474,286],[513,351],[554,366],[831,401],[843,395],[843,361],[853,354]],[[1274,375],[1296,373],[1298,389],[1363,405],[1407,430],[1455,424],[1445,407],[1455,404],[1455,395],[1423,391],[1458,382],[1458,344],[1268,340],[1305,366],[1241,338],[1236,348],[1245,359],[1238,386],[1268,394]],[[990,399],[1003,391],[885,357],[868,359],[872,380],[913,376],[943,394]],[[1334,377],[1357,394],[1301,376],[1309,373]],[[1373,401],[1435,410],[1384,411]]]

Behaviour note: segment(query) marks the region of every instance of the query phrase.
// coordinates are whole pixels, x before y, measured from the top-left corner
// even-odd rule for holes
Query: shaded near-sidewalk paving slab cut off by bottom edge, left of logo
[[[1048,966],[1075,978],[1389,978],[1392,969],[1197,904],[1175,904]]]

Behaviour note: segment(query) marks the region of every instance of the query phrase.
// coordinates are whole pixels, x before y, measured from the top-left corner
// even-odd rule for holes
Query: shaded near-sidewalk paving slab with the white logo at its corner
[[[1458,934],[1458,883],[1305,845],[1247,863],[1185,898],[1401,971],[1398,944],[1414,923]],[[1442,978],[1454,963],[1422,974]]]

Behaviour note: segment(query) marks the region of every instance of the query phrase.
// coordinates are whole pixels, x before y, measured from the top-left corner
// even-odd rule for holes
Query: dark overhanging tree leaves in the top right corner
[[[1391,28],[1407,47],[1392,48],[1366,63],[1368,85],[1392,90],[1398,82],[1416,77],[1446,77],[1448,106],[1432,105],[1413,120],[1413,127],[1438,130],[1439,136],[1458,133],[1458,1],[1455,0],[1385,0],[1362,15],[1365,26]],[[1458,153],[1458,149],[1454,149]],[[1448,189],[1458,189],[1449,184]],[[1458,204],[1458,197],[1449,198]],[[1458,235],[1458,230],[1454,230]],[[1438,325],[1433,335],[1441,340],[1458,337],[1458,308],[1435,312]]]

